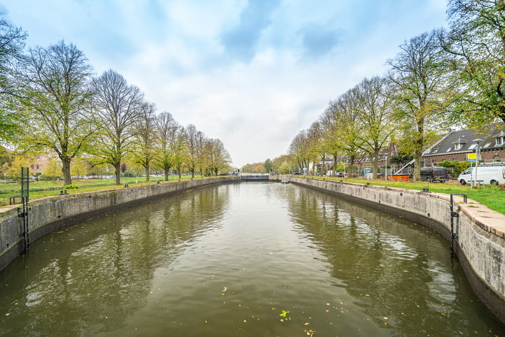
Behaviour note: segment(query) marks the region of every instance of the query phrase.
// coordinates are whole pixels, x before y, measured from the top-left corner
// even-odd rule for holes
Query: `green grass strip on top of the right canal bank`
[[[505,190],[502,191],[498,186],[492,185],[482,185],[478,187],[470,187],[470,185],[459,185],[456,182],[447,182],[447,183],[427,183],[423,182],[414,182],[414,181],[389,181],[384,179],[359,179],[359,178],[334,178],[334,177],[310,177],[315,179],[326,179],[326,180],[337,180],[337,181],[346,181],[348,183],[358,183],[358,184],[366,184],[370,183],[370,185],[379,185],[379,186],[389,186],[389,187],[398,187],[403,188],[405,190],[422,190],[423,188],[429,188],[430,192],[437,193],[464,193],[469,199],[478,201],[480,204],[483,204],[490,209],[497,211],[501,214],[505,214]]]

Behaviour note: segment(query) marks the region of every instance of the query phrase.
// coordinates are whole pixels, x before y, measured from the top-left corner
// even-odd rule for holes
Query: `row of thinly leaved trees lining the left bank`
[[[207,138],[190,124],[182,127],[170,113],[156,114],[154,103],[114,70],[93,77],[82,51],[60,41],[24,53],[26,33],[0,21],[0,137],[19,150],[51,151],[62,165],[65,185],[71,163],[114,166],[134,159],[147,172],[182,169],[217,174],[228,169],[221,140]]]

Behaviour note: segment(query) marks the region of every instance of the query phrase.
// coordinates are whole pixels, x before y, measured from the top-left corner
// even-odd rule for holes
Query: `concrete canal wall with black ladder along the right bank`
[[[392,187],[344,183],[335,180],[271,176],[271,180],[335,192],[345,199],[402,216],[436,229],[450,239],[450,196]],[[454,253],[473,289],[487,308],[505,324],[505,216],[462,197],[454,196]],[[449,254],[450,249],[441,251]]]

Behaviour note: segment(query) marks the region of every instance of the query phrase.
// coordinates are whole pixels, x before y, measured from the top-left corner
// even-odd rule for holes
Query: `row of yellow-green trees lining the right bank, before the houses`
[[[483,128],[505,122],[505,2],[450,0],[450,29],[425,32],[387,60],[389,72],[365,78],[330,101],[321,117],[292,140],[289,154],[300,169],[331,154],[372,159],[391,142],[415,159],[448,126]],[[334,170],[335,171],[335,170]]]

